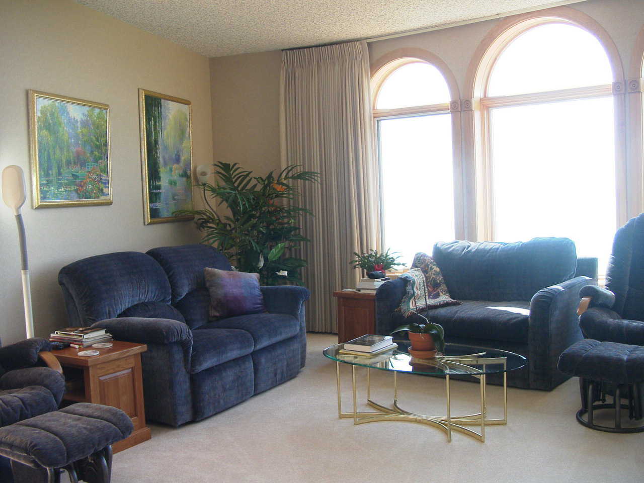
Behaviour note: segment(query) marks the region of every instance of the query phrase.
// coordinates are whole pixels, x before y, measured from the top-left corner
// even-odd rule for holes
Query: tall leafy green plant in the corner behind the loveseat
[[[309,241],[299,233],[298,222],[312,213],[298,207],[294,184],[319,182],[319,173],[290,165],[277,175],[254,176],[238,163],[213,166],[214,184],[200,185],[206,208],[176,211],[175,216],[194,215],[204,232],[202,243],[223,252],[238,270],[260,274],[261,285],[301,285],[299,272],[307,261],[292,251]]]

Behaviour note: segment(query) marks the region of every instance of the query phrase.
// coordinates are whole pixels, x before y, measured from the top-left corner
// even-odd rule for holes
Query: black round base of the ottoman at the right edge
[[[579,424],[597,431],[609,433],[641,433],[644,425],[623,428],[621,426],[621,410],[629,410],[629,418],[639,421],[643,419],[642,411],[642,384],[609,384],[598,381],[589,381],[579,378],[579,388],[582,396],[582,408],[577,412]],[[628,404],[621,403],[621,393],[627,394]],[[606,395],[612,393],[612,404],[605,403]],[[601,401],[596,404],[595,401]],[[614,412],[614,426],[601,426],[594,423],[594,412],[596,410],[612,410]],[[583,415],[587,414],[586,419]]]

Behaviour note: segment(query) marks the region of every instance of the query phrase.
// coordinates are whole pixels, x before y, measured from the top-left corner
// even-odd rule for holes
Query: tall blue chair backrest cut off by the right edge
[[[624,319],[644,321],[644,213],[618,229],[606,270],[612,309]]]

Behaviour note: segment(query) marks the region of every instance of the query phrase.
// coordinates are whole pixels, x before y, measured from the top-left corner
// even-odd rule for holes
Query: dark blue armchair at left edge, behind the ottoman
[[[39,353],[49,349],[39,338],[0,347],[0,427],[58,409],[64,378],[57,370],[37,366]],[[13,481],[5,457],[0,457],[0,481]]]

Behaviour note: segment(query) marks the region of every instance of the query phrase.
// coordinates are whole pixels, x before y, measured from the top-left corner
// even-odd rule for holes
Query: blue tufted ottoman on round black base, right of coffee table
[[[644,425],[621,426],[622,409],[629,410],[630,419],[642,419],[643,346],[583,339],[563,352],[557,366],[564,374],[579,377],[582,408],[577,412],[577,421],[583,426],[611,433],[644,431]],[[605,403],[607,395],[612,395],[612,404]],[[627,398],[628,404],[622,404],[622,398]],[[598,401],[601,403],[596,404]],[[593,412],[601,409],[614,410],[614,426],[594,423]],[[583,419],[585,413],[587,419]]]

